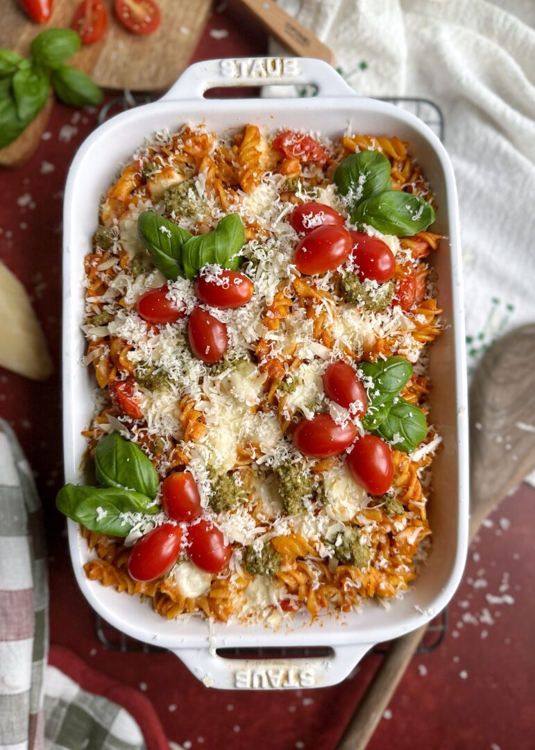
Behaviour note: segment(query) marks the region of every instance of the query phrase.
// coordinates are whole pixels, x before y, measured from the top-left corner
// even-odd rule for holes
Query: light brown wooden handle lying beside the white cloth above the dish
[[[292,18],[282,7],[272,0],[238,0],[240,5],[253,13],[253,16],[273,34],[290,52],[300,57],[316,57],[334,63],[333,52],[315,37],[308,28]]]

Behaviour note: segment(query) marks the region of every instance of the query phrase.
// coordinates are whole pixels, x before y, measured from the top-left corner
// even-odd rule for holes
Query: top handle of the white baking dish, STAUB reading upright
[[[304,86],[318,97],[354,97],[355,92],[323,60],[306,57],[255,57],[205,60],[186,68],[160,101],[202,99],[208,89],[227,86]]]

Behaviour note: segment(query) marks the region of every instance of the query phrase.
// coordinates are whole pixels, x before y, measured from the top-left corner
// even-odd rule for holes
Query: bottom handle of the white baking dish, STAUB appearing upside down
[[[337,685],[372,646],[333,646],[329,655],[308,658],[223,658],[206,647],[171,650],[208,688],[285,690]]]

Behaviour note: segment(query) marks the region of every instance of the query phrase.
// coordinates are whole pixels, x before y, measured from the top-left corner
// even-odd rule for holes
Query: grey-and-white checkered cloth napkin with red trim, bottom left
[[[144,719],[143,731],[120,703]],[[49,649],[42,509],[31,469],[0,420],[0,750],[40,748],[167,750],[169,743],[144,696],[66,649]]]

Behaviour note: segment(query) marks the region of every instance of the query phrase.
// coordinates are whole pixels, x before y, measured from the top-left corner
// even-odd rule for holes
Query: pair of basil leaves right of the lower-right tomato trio
[[[426,437],[427,424],[423,411],[399,396],[411,379],[411,363],[396,356],[362,362],[359,370],[371,379],[366,383],[368,410],[362,419],[363,428],[385,440],[395,438],[394,444],[401,451],[414,450]]]

